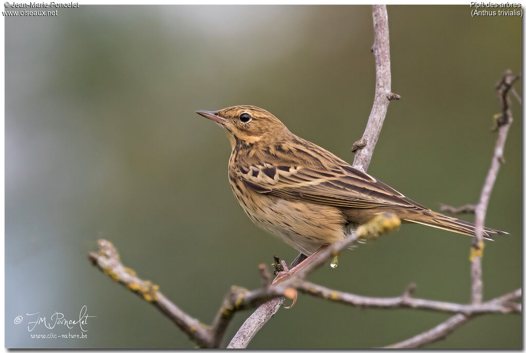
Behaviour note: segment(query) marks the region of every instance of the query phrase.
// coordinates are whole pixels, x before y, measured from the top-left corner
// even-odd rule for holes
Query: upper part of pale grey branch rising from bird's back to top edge
[[[352,146],[352,151],[356,151],[352,165],[363,172],[366,172],[371,163],[372,152],[378,142],[389,101],[400,99],[398,94],[391,92],[391,55],[386,5],[372,5],[372,22],[375,28],[375,43],[372,46],[376,63],[375,101],[361,140]]]

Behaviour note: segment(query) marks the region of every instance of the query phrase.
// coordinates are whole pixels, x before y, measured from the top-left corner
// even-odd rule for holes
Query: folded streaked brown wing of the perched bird
[[[258,163],[238,165],[235,172],[248,188],[289,200],[336,207],[428,209],[348,164],[319,169]]]

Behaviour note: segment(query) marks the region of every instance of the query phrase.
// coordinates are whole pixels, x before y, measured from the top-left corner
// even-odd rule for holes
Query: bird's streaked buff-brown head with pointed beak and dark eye
[[[198,110],[196,113],[224,127],[232,148],[236,144],[268,143],[289,133],[276,116],[253,105],[236,105],[216,111]]]

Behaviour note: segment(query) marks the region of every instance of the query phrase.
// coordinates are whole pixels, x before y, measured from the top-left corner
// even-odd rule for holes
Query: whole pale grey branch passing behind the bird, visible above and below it
[[[353,166],[363,170],[363,172],[367,171],[371,162],[372,152],[378,141],[383,120],[385,120],[389,101],[400,98],[398,94],[391,92],[391,58],[386,5],[372,5],[372,20],[375,30],[375,44],[373,45],[376,63],[375,101],[363,137],[360,141],[355,142],[352,147],[352,151],[357,151]],[[297,261],[301,256],[300,253],[294,261],[297,262],[296,264],[305,259],[304,257]],[[290,268],[292,267],[294,266],[290,266]],[[277,313],[283,301],[283,298],[275,298],[257,308],[241,325],[227,348],[246,348],[250,340]]]

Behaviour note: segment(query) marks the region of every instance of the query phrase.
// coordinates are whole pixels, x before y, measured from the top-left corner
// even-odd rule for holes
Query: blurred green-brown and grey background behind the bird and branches
[[[468,6],[388,6],[392,102],[369,173],[438,210],[478,200],[496,135],[494,84],[521,70],[521,20]],[[225,132],[194,113],[265,108],[352,162],[375,88],[370,6],[84,6],[5,18],[6,346],[192,348],[154,307],[87,260],[96,240],[211,323],[233,284],[297,254],[254,226],[231,194]],[[521,93],[521,84],[516,88]],[[521,111],[486,224],[484,298],[521,286]],[[472,220],[473,216],[462,216]],[[344,252],[313,282],[342,291],[466,303],[471,239],[404,225]],[[31,339],[17,315],[78,317],[86,339]],[[224,345],[252,311],[236,315]],[[300,295],[250,348],[365,348],[449,317],[358,309]],[[429,348],[520,348],[519,315],[472,320]],[[67,333],[57,328],[52,333]],[[78,333],[73,328],[72,333]],[[49,333],[38,326],[33,333]]]

